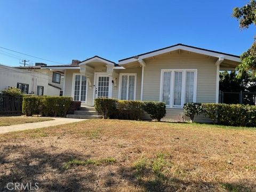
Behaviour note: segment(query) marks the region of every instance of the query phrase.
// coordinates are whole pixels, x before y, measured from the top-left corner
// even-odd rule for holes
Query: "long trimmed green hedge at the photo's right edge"
[[[256,126],[256,106],[204,103],[206,117],[214,123],[230,126]]]

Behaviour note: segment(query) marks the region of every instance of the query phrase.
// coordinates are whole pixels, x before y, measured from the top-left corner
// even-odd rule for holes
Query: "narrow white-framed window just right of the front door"
[[[136,99],[136,77],[135,73],[121,73],[119,76],[119,99]]]

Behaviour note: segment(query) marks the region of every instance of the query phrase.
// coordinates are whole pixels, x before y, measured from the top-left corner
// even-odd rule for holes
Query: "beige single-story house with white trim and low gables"
[[[176,44],[118,63],[94,56],[71,65],[41,66],[64,73],[63,95],[84,105],[95,98],[163,101],[167,119],[186,102],[219,102],[219,71],[234,70],[237,55]]]

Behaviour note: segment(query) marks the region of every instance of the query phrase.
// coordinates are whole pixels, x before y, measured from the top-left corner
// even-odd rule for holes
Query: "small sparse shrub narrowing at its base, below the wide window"
[[[187,102],[183,106],[185,115],[190,118],[191,122],[194,122],[195,115],[203,113],[204,109],[202,103]]]

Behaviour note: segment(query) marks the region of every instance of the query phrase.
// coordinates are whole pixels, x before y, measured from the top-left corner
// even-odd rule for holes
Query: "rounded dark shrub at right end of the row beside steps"
[[[145,101],[143,108],[152,119],[156,119],[158,122],[166,115],[164,102]]]

